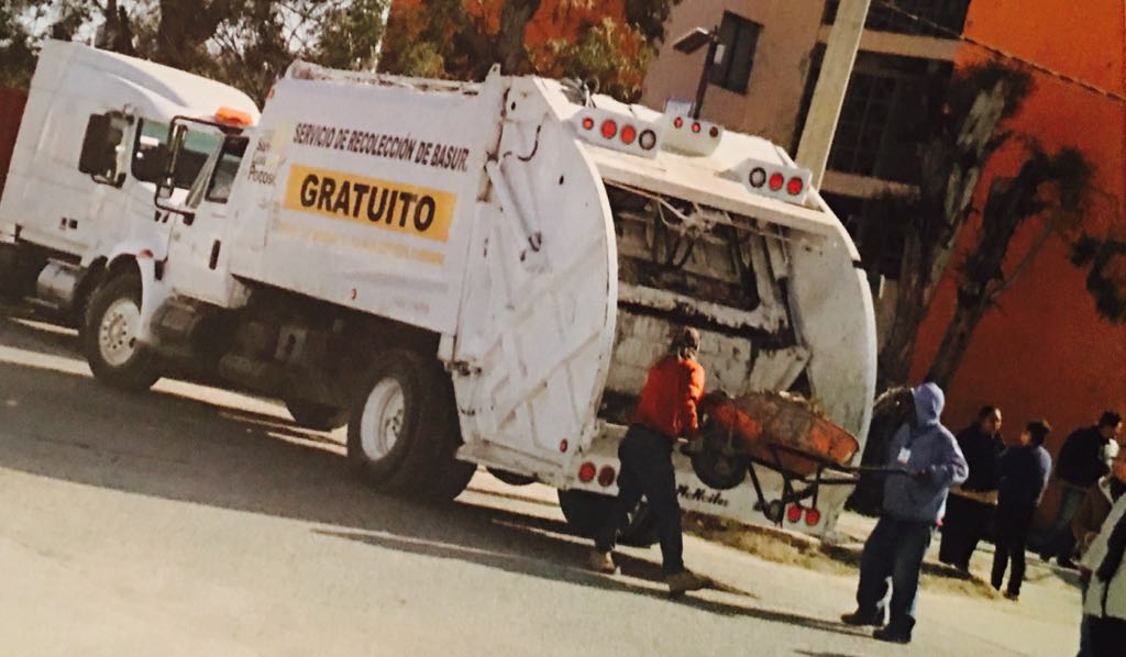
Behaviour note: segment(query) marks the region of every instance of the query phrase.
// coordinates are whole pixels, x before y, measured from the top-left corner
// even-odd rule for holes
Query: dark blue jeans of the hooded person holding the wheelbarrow
[[[860,585],[856,602],[861,615],[882,620],[891,611],[888,627],[911,632],[919,601],[919,572],[930,547],[933,528],[933,523],[926,521],[887,515],[879,519],[860,556]],[[886,602],[888,579],[891,604]]]

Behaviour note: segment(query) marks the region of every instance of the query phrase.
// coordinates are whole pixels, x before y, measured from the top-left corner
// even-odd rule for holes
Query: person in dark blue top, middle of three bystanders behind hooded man
[[[1001,487],[998,493],[997,550],[993,552],[991,582],[993,588],[1001,590],[1004,570],[1011,559],[1012,573],[1004,592],[1009,600],[1020,597],[1028,530],[1052,472],[1052,457],[1044,449],[1044,441],[1051,431],[1052,428],[1043,420],[1029,422],[1020,434],[1020,446],[1006,450],[998,459]]]

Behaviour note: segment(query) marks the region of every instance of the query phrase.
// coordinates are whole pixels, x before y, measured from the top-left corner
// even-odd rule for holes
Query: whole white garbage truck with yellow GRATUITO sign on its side
[[[194,133],[221,146],[177,195]],[[558,489],[580,531],[608,510],[678,327],[701,335],[708,389],[797,394],[865,434],[875,320],[848,233],[783,148],[681,104],[295,62],[252,128],[179,116],[166,143],[150,200],[168,237],[123,248],[87,304],[109,385],[190,362],[301,425],[346,426],[378,490],[449,500],[484,466]],[[674,464],[685,510],[779,521],[745,480]],[[767,498],[781,487],[762,477]],[[792,528],[830,531],[846,495]]]

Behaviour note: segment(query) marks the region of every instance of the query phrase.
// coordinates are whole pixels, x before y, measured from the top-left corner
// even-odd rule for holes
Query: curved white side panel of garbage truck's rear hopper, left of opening
[[[597,432],[617,251],[601,179],[573,134],[513,114],[474,219],[454,384],[468,456],[549,477]]]

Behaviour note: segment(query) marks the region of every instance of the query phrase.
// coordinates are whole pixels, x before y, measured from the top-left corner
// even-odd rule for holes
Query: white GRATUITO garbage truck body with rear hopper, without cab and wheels
[[[600,147],[580,138],[573,98],[535,78],[459,84],[297,63],[206,228],[226,244],[211,269],[438,334],[459,456],[562,488],[614,492],[580,482],[579,466],[617,467],[624,422],[609,406],[640,393],[685,318],[701,328],[708,389],[799,386],[863,440],[876,344],[856,249],[815,192],[795,205],[736,178],[749,159],[793,166],[788,156],[733,133],[708,155]],[[670,129],[652,110],[592,102]],[[696,250],[669,260],[676,280],[646,269],[686,236]],[[191,296],[195,274],[177,271],[170,261],[164,285]],[[705,281],[699,294],[689,279]],[[241,284],[225,289],[195,297],[244,300]],[[676,462],[687,508],[762,522],[749,483],[711,490]],[[828,531],[847,493],[823,490],[821,522],[799,529]]]

